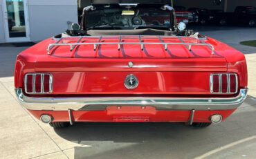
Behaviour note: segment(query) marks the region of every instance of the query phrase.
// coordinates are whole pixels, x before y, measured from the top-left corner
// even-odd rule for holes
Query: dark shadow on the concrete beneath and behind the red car
[[[249,96],[228,120],[205,129],[167,122],[75,123],[55,132],[87,146],[75,147],[75,158],[195,158],[256,135],[255,101]]]

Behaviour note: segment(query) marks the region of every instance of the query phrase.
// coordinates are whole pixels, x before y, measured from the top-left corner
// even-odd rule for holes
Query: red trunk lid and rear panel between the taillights
[[[79,40],[82,45],[76,45]],[[101,44],[95,46],[97,42]],[[117,42],[122,42],[120,49]],[[143,50],[131,44],[137,42],[144,44]],[[35,63],[35,71],[53,73],[53,94],[210,94],[210,73],[227,71],[225,57],[216,51],[212,55],[209,46],[189,50],[184,45],[205,44],[193,37],[72,37],[62,43],[73,45],[53,46],[51,55],[39,56]],[[165,50],[161,43],[179,44]],[[140,84],[127,90],[125,77],[131,74]]]

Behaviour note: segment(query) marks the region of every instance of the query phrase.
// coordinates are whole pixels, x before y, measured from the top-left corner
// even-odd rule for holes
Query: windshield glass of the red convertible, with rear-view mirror
[[[89,11],[86,18],[86,29],[124,28],[157,26],[170,28],[170,11],[158,8],[104,8]]]

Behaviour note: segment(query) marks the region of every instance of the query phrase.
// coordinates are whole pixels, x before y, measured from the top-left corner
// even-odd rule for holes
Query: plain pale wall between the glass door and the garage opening
[[[28,0],[31,41],[40,41],[77,23],[77,0]]]

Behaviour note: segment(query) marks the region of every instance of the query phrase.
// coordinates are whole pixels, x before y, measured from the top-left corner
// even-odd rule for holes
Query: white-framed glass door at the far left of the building
[[[30,41],[27,0],[2,0],[6,42]]]

